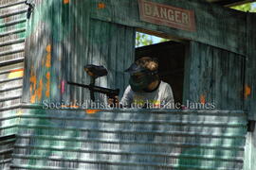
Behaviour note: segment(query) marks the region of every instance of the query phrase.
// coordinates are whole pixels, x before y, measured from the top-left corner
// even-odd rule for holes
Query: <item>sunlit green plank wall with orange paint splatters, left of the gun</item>
[[[82,19],[85,20],[86,10],[80,7],[86,4],[51,0],[37,2],[38,9],[31,15],[27,30],[24,101],[42,103],[44,100],[52,100],[70,103],[71,100],[74,102],[73,96],[81,98],[81,90],[71,90],[66,81],[76,80],[79,76],[74,75],[83,73],[81,59],[84,57],[83,43],[87,44],[87,40],[83,32],[77,30],[83,30],[81,17],[78,16],[84,16]],[[80,49],[78,54],[77,48]],[[80,55],[79,58],[77,55]]]

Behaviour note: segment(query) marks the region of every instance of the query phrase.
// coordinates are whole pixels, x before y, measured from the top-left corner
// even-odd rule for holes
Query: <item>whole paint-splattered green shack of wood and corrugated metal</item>
[[[0,168],[254,170],[256,15],[225,7],[244,2],[1,0]],[[172,41],[136,49],[137,31]],[[104,65],[121,97],[145,55],[176,101],[213,110],[83,109],[66,83]]]

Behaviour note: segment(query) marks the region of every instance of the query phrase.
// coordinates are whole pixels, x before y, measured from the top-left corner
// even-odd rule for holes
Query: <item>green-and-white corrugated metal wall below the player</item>
[[[241,170],[239,110],[22,111],[13,169]]]

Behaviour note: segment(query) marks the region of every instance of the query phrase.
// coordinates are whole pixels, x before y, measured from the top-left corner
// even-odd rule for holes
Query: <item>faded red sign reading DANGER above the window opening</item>
[[[194,12],[158,3],[138,0],[140,19],[156,25],[195,31]]]

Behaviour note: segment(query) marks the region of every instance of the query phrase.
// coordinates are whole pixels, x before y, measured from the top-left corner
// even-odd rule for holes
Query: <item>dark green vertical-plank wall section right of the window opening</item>
[[[190,77],[185,85],[190,90],[186,92],[188,100],[214,104],[214,109],[243,109],[245,70],[242,56],[192,42],[190,60],[190,68],[187,68]]]

